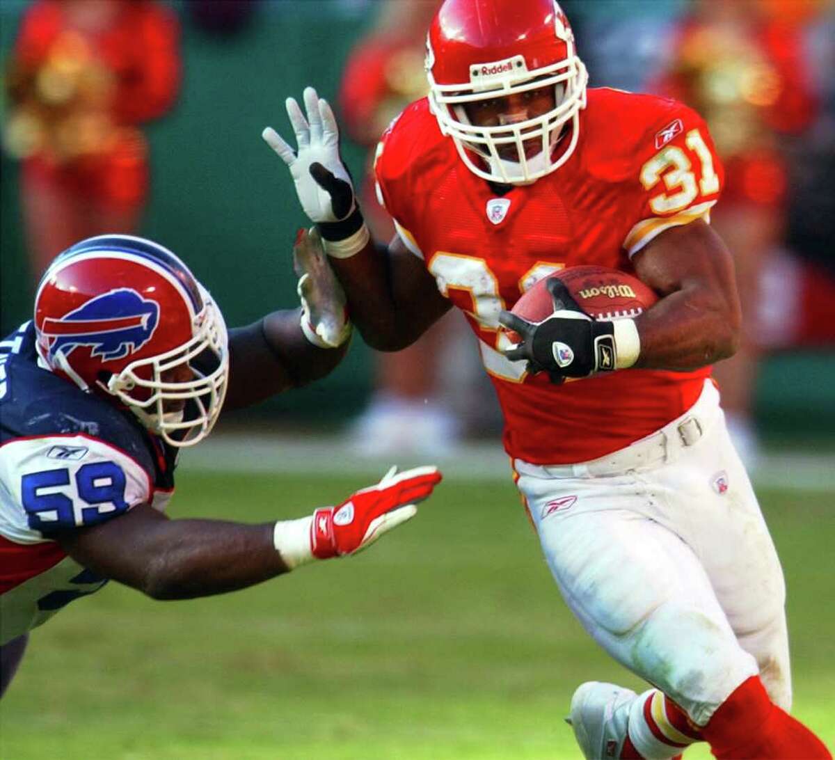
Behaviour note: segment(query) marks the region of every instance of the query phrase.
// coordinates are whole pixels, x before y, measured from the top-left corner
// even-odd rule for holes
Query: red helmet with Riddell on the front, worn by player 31
[[[588,75],[556,0],[446,0],[429,27],[426,69],[429,104],[441,131],[479,177],[528,184],[574,152]],[[478,127],[464,110],[464,104],[549,85],[554,109],[532,119]],[[569,142],[558,146],[564,135]],[[532,140],[542,149],[526,157],[524,143]],[[518,160],[499,155],[508,145]]]

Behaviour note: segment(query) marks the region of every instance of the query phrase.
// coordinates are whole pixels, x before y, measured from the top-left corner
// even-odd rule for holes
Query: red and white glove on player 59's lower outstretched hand
[[[441,481],[437,467],[416,467],[357,491],[336,507],[316,509],[311,524],[311,551],[320,560],[356,554],[417,513]]]

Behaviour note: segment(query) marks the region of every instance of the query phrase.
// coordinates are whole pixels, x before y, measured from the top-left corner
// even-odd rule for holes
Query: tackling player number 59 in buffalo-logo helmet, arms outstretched
[[[117,580],[154,599],[245,588],[349,555],[411,518],[441,479],[397,474],[301,519],[169,519],[181,448],[239,408],[330,372],[351,332],[315,233],[296,241],[301,309],[226,331],[163,246],[81,241],[53,261],[34,317],[0,342],[0,694],[28,632]]]

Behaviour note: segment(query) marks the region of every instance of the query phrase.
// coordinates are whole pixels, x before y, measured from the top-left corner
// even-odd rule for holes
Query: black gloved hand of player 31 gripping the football
[[[499,315],[498,322],[522,338],[504,356],[514,362],[527,360],[529,372],[548,372],[554,383],[614,370],[614,323],[596,322],[584,314],[557,278],[549,280],[548,289],[554,312],[542,322],[529,322],[512,312]]]

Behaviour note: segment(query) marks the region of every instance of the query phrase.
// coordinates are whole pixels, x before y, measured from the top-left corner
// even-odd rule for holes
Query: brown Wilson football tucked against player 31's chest
[[[546,285],[553,277],[564,283],[574,301],[592,319],[637,317],[658,301],[650,286],[625,271],[606,266],[569,266],[534,283],[516,301],[512,312],[529,322],[549,317],[554,312],[554,302]],[[509,337],[513,340],[516,335],[510,333]]]

